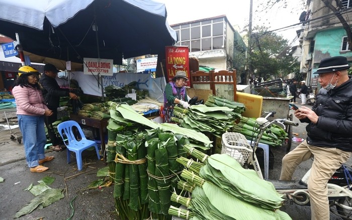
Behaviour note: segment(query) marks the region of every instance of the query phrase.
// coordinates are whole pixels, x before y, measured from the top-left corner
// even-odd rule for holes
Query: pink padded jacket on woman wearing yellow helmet
[[[39,116],[45,114],[48,107],[44,104],[42,92],[32,87],[19,85],[12,89],[17,105],[17,115]]]

